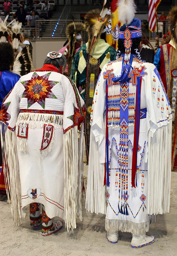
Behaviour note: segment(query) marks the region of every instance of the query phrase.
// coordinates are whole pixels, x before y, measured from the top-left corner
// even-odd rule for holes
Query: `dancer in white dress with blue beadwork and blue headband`
[[[94,93],[86,209],[106,214],[108,241],[131,232],[136,248],[155,241],[150,215],[169,212],[172,115],[156,67],[140,60],[141,21],[123,18]]]

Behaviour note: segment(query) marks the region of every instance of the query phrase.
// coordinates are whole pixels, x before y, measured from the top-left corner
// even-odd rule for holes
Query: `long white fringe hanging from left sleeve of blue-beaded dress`
[[[106,186],[104,186],[104,164],[99,162],[98,142],[91,130],[90,154],[85,208],[96,214],[106,214]]]

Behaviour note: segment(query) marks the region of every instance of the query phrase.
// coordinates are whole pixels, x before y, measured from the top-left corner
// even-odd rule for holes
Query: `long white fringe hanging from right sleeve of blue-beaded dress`
[[[148,135],[148,214],[169,212],[171,181],[171,131],[169,125]]]

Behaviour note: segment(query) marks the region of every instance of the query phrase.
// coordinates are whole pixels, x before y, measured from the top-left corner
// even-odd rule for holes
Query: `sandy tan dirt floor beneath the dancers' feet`
[[[172,172],[170,213],[158,215],[151,225],[149,234],[156,237],[152,245],[131,248],[130,233],[120,233],[118,244],[109,243],[104,219],[83,207],[83,222],[76,230],[67,233],[63,227],[56,234],[42,237],[40,229],[30,228],[29,214],[20,228],[14,227],[9,204],[0,201],[0,256],[177,256],[177,172]]]

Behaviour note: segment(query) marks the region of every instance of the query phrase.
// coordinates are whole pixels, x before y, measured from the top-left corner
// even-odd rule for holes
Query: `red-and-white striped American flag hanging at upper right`
[[[161,0],[149,0],[149,30],[153,32],[157,21],[157,7]]]

